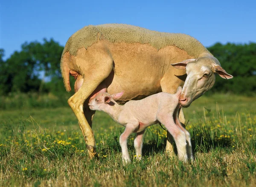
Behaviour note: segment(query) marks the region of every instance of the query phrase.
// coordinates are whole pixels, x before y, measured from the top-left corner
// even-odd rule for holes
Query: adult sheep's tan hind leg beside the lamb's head
[[[93,158],[96,155],[95,139],[94,139],[93,130],[91,129],[93,112],[89,111],[89,109],[87,108],[84,111],[83,105],[85,100],[93,93],[93,91],[99,86],[99,84],[104,79],[106,79],[108,75],[111,73],[113,69],[113,61],[111,58],[106,57],[105,60],[103,60],[103,62],[94,60],[93,62],[88,62],[88,63],[95,64],[98,68],[88,69],[87,75],[89,74],[89,76],[83,75],[84,81],[81,85],[81,88],[79,88],[79,90],[73,96],[71,96],[70,99],[68,99],[68,104],[70,105],[70,107],[72,108],[73,112],[75,113],[78,119],[80,129],[84,136],[84,141],[87,144],[89,157]],[[86,71],[84,70],[84,72]]]

